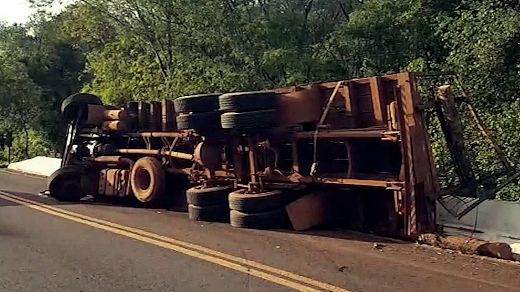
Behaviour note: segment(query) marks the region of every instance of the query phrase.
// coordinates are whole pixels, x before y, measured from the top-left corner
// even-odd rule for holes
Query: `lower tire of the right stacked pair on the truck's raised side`
[[[223,129],[251,131],[273,127],[276,124],[276,110],[243,113],[224,113],[220,116]]]

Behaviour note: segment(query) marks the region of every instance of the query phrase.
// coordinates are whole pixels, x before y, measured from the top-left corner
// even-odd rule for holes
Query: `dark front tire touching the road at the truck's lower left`
[[[56,170],[47,181],[50,196],[63,202],[81,200],[86,195],[81,187],[82,175],[86,175],[86,168],[79,165],[64,166]]]

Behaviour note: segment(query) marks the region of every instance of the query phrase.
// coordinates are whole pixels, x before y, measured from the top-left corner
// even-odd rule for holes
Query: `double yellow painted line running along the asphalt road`
[[[43,211],[43,212],[51,214],[51,215],[55,215],[55,216],[66,218],[66,219],[69,219],[69,220],[72,220],[75,222],[83,223],[83,224],[86,224],[86,225],[89,225],[89,226],[92,226],[95,228],[99,228],[102,230],[106,230],[106,231],[109,231],[112,233],[131,237],[131,238],[134,238],[134,239],[142,241],[142,242],[147,242],[150,244],[168,248],[168,249],[177,251],[179,253],[189,255],[194,258],[199,258],[199,259],[203,259],[203,260],[206,260],[206,261],[209,261],[212,263],[216,263],[216,264],[219,264],[220,266],[223,266],[223,267],[226,267],[229,269],[233,269],[236,271],[240,271],[240,272],[243,272],[246,274],[250,274],[250,275],[262,278],[264,280],[270,281],[270,282],[274,282],[274,283],[277,283],[277,284],[280,284],[280,285],[283,285],[286,287],[293,288],[295,290],[313,291],[313,292],[320,291],[315,288],[308,287],[308,286],[301,284],[301,283],[304,283],[307,285],[326,289],[331,292],[352,292],[352,291],[343,289],[341,287],[323,283],[323,282],[320,282],[320,281],[317,281],[317,280],[314,280],[314,279],[311,279],[311,278],[308,278],[305,276],[297,275],[297,274],[294,274],[294,273],[291,273],[288,271],[270,267],[270,266],[267,266],[266,264],[262,264],[262,263],[258,263],[258,262],[251,261],[248,259],[244,259],[244,258],[240,258],[237,256],[232,256],[232,255],[229,255],[226,253],[222,253],[221,251],[217,251],[217,250],[213,250],[213,249],[203,247],[200,245],[176,240],[174,238],[155,234],[152,232],[128,227],[128,226],[121,225],[118,223],[113,223],[110,221],[105,221],[105,220],[101,220],[98,218],[86,216],[86,215],[75,213],[75,212],[72,212],[69,210],[53,207],[53,206],[50,206],[50,205],[47,205],[44,203],[32,201],[27,198],[19,197],[19,196],[5,193],[2,191],[0,191],[0,197],[4,198],[5,200],[15,202],[15,203],[39,210],[39,211]],[[198,250],[198,251],[202,251],[203,253],[206,253],[206,254],[202,254],[202,253],[199,253],[194,250],[186,249],[185,247],[191,248],[194,250]],[[217,256],[220,258],[217,258],[214,256]],[[224,259],[235,261],[235,262],[230,262],[230,261],[227,261]],[[271,274],[268,274],[268,273],[265,273],[265,272],[262,272],[259,270],[251,269],[250,267],[245,267],[245,266],[242,266],[241,264],[244,264],[246,266],[250,266],[253,268],[257,268],[260,270],[264,270],[265,272],[269,272],[272,274],[277,274],[279,276],[287,277],[287,278],[290,278],[292,280],[295,280],[295,281],[298,281],[301,283],[293,282],[291,280],[287,280],[287,279],[284,279],[284,278],[281,278],[281,277],[278,277],[275,275],[271,275]]]

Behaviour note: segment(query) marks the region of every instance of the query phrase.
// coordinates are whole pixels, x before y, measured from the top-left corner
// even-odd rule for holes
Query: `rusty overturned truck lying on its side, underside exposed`
[[[183,197],[191,219],[242,228],[282,227],[312,194],[290,216],[415,236],[435,229],[439,193],[423,110],[409,72],[124,108],[76,94],[48,187],[62,201]]]

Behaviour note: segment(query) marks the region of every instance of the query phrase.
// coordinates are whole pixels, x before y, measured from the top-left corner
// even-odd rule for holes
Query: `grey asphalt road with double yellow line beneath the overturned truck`
[[[241,230],[164,209],[63,204],[43,189],[0,171],[2,292],[520,290],[515,262],[350,231]]]

